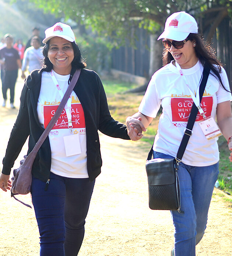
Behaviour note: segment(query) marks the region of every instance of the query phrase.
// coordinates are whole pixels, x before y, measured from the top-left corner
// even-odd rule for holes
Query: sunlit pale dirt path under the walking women
[[[20,80],[16,97],[21,87]],[[1,159],[16,114],[17,110],[0,107]],[[102,173],[96,179],[79,255],[169,256],[173,246],[169,211],[148,208],[145,159],[149,146],[105,135],[100,135],[100,141]],[[26,151],[25,146],[18,160]],[[215,189],[198,256],[232,256],[232,209],[226,207],[221,195]],[[21,198],[31,202],[29,195]],[[0,256],[39,256],[38,237],[34,211],[0,191]]]

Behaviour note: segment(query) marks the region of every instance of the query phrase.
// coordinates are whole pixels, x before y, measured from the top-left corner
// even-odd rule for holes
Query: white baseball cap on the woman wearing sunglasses
[[[159,36],[175,41],[182,41],[187,38],[190,33],[197,34],[197,22],[190,14],[185,11],[179,11],[169,16],[165,22],[164,32]]]

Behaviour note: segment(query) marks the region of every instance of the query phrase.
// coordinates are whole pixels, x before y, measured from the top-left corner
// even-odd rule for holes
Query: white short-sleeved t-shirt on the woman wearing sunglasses
[[[198,61],[192,68],[182,69],[182,72],[190,89],[195,94],[203,66]],[[228,78],[223,68],[221,79],[224,86],[229,90]],[[201,101],[201,107],[206,111],[207,117],[211,115],[215,119],[217,104],[228,100],[232,100],[231,93],[224,90],[218,80],[210,74]],[[176,157],[193,100],[183,77],[180,76],[172,62],[154,73],[138,110],[142,114],[154,118],[160,104],[163,113],[159,118],[153,149]],[[193,133],[182,158],[182,162],[187,165],[208,166],[219,160],[217,138],[206,139],[198,124],[198,121],[202,120],[198,112]]]

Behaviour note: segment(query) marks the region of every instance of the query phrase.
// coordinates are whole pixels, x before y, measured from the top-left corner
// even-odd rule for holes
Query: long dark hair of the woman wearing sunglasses
[[[220,76],[221,73],[221,62],[215,56],[215,53],[210,45],[207,45],[202,37],[199,34],[190,33],[186,39],[189,39],[191,42],[195,41],[196,46],[195,52],[197,58],[200,60],[201,64],[204,66],[205,64],[208,65],[211,69],[210,73],[213,75],[221,86],[228,91],[222,83],[222,79]],[[168,51],[168,49],[164,49],[163,51],[163,66],[170,63],[173,60],[172,54]],[[230,91],[229,91],[230,92]]]

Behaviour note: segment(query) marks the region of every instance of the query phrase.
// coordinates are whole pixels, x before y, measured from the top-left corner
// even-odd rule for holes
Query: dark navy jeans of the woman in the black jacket
[[[45,183],[32,177],[32,203],[40,233],[41,256],[77,256],[85,232],[94,181],[50,173]]]

